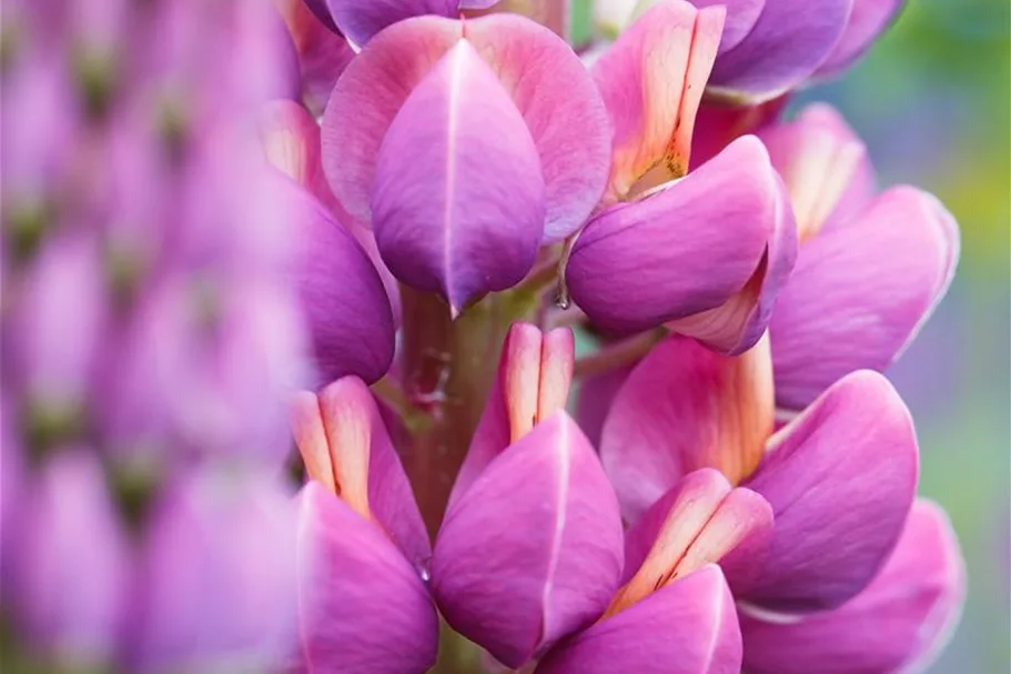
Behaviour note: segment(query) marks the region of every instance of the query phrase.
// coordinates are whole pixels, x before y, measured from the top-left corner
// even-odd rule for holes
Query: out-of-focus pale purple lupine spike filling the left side
[[[79,0],[3,19],[12,656],[271,668],[294,634],[277,473],[307,360],[280,218],[299,211],[250,133],[292,93],[280,18]]]

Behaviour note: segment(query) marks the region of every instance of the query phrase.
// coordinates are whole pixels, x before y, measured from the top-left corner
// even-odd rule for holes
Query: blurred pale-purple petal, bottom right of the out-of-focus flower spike
[[[275,670],[296,643],[294,515],[273,476],[178,479],[146,532],[128,671]]]

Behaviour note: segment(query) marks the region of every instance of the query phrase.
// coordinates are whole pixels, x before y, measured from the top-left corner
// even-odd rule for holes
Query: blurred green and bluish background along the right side
[[[867,141],[883,184],[930,190],[962,231],[958,275],[890,373],[912,409],[921,494],[949,513],[969,601],[931,674],[1011,671],[1011,2],[910,0],[823,100]]]

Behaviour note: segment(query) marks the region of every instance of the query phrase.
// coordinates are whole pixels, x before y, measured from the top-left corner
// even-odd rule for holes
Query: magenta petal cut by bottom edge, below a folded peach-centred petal
[[[740,627],[717,566],[706,566],[552,650],[536,674],[738,674]]]

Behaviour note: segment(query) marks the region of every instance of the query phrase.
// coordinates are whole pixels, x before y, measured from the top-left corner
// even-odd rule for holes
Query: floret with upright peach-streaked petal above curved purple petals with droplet
[[[582,231],[565,279],[589,320],[606,330],[666,323],[739,353],[768,324],[797,243],[782,184],[754,138],[686,175],[721,24],[720,8],[665,2],[595,62],[615,125],[605,203],[620,203]],[[715,250],[718,265],[702,254]]]

